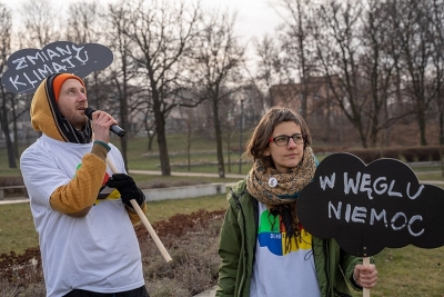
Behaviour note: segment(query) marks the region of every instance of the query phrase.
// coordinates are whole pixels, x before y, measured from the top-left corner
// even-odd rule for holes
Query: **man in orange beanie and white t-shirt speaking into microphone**
[[[39,234],[48,297],[148,297],[131,199],[145,197],[125,174],[110,143],[117,121],[95,111],[92,120],[82,79],[48,77],[31,102],[31,122],[42,136],[20,159]],[[92,141],[93,139],[93,141]],[[110,177],[111,176],[111,177]]]

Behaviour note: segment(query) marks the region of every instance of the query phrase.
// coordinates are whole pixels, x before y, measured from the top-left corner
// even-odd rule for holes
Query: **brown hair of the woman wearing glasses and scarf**
[[[269,139],[273,133],[274,127],[284,121],[293,121],[300,126],[302,135],[305,136],[304,148],[310,146],[312,137],[304,119],[289,108],[272,107],[259,121],[246,143],[245,154],[253,158],[253,160],[260,159],[265,166],[273,166],[271,156],[264,156],[264,151],[269,147]]]

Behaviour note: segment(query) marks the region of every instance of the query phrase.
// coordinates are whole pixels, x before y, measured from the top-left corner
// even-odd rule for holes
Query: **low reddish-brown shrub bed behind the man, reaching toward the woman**
[[[134,227],[142,253],[143,275],[151,297],[191,297],[218,278],[219,230],[225,210],[175,215],[153,225],[169,251],[167,263],[143,225]],[[37,265],[30,264],[34,259]],[[33,261],[33,263],[36,263]],[[0,296],[44,297],[39,248],[24,255],[0,255]]]

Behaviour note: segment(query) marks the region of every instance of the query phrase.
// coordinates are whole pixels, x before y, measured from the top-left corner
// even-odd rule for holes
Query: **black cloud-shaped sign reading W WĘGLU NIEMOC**
[[[347,253],[376,255],[384,247],[444,246],[444,190],[421,185],[395,159],[367,166],[351,154],[333,154],[300,194],[297,216],[320,238],[335,238]]]

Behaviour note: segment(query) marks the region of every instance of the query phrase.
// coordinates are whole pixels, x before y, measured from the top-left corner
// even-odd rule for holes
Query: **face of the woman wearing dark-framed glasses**
[[[274,127],[271,138],[295,133],[302,133],[301,127],[293,121],[283,121]],[[290,138],[286,146],[279,147],[271,140],[264,155],[271,156],[279,172],[286,174],[289,168],[296,167],[301,162],[304,156],[304,143],[294,143],[293,139]]]

